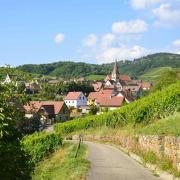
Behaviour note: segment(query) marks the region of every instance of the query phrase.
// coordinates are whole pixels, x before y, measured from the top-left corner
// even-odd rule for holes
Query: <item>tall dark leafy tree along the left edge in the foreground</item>
[[[0,177],[4,180],[31,179],[32,166],[21,148],[22,138],[18,124],[24,120],[20,104],[24,95],[17,94],[15,86],[0,85]]]

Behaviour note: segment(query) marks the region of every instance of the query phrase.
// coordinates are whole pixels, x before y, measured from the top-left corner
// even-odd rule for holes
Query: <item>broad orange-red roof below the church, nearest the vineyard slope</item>
[[[103,107],[120,107],[124,101],[124,97],[100,97],[98,104]]]

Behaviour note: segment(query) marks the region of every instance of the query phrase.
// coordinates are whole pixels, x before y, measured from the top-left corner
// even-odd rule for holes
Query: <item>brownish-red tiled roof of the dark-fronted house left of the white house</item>
[[[54,113],[58,114],[63,107],[64,101],[31,101],[24,105],[26,112],[38,112],[42,106],[54,106]]]

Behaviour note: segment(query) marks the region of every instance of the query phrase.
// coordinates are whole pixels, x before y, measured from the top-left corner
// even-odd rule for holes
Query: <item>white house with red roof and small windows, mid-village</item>
[[[79,108],[87,105],[87,98],[82,92],[69,92],[64,101],[68,107]]]

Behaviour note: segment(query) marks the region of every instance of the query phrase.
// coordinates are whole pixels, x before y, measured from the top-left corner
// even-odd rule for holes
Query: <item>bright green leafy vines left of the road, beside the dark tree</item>
[[[30,156],[29,163],[35,164],[62,145],[59,133],[34,133],[23,137],[22,149]]]

